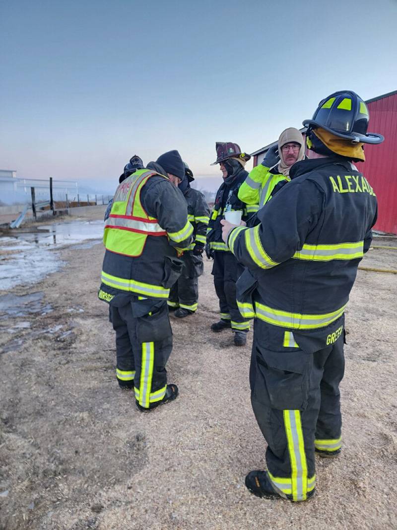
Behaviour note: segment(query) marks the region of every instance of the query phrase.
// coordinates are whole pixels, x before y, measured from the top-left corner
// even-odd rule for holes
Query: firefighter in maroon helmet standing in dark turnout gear
[[[214,332],[231,328],[234,332],[234,345],[244,346],[249,331],[249,320],[244,319],[237,307],[236,281],[244,268],[237,262],[229,248],[222,241],[221,219],[226,211],[241,210],[242,220],[248,219],[246,205],[238,198],[240,185],[248,173],[244,166],[250,155],[242,153],[237,144],[216,142],[216,161],[223,175],[223,183],[216,193],[215,205],[207,231],[207,246],[214,259],[212,274],[216,295],[219,298],[220,320],[211,325]]]

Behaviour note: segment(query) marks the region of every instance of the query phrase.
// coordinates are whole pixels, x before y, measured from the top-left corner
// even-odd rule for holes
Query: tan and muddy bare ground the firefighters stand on
[[[0,313],[2,530],[397,528],[397,275],[358,272],[344,448],[337,461],[317,460],[315,497],[291,504],[244,485],[264,467],[265,442],[250,407],[250,344],[210,331],[211,262],[197,314],[172,317],[168,381],[180,396],[142,414],[115,381],[114,333],[96,298],[102,245],[59,252],[64,268],[11,291],[42,293],[25,306],[36,312]],[[396,269],[397,251],[370,251],[362,263]]]

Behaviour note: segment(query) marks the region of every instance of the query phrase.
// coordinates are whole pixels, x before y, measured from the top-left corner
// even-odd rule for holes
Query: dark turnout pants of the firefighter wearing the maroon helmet
[[[236,301],[236,282],[244,267],[231,252],[214,251],[212,275],[222,320],[230,320],[233,331],[249,331],[249,320],[241,316]]]

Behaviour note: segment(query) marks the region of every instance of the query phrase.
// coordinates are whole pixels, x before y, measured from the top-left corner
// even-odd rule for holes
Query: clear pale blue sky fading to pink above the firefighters
[[[395,0],[0,0],[0,169],[112,191],[133,154],[178,149],[216,188],[216,140],[252,152],[335,90],[396,90],[396,20]]]

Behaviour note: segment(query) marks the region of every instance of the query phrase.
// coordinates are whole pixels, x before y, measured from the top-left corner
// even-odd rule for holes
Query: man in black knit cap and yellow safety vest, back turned
[[[134,388],[137,407],[150,411],[178,395],[167,385],[172,351],[167,299],[182,270],[178,255],[192,240],[186,201],[173,184],[185,167],[169,151],[117,188],[105,224],[106,248],[98,297],[111,306],[116,332],[116,377]]]

